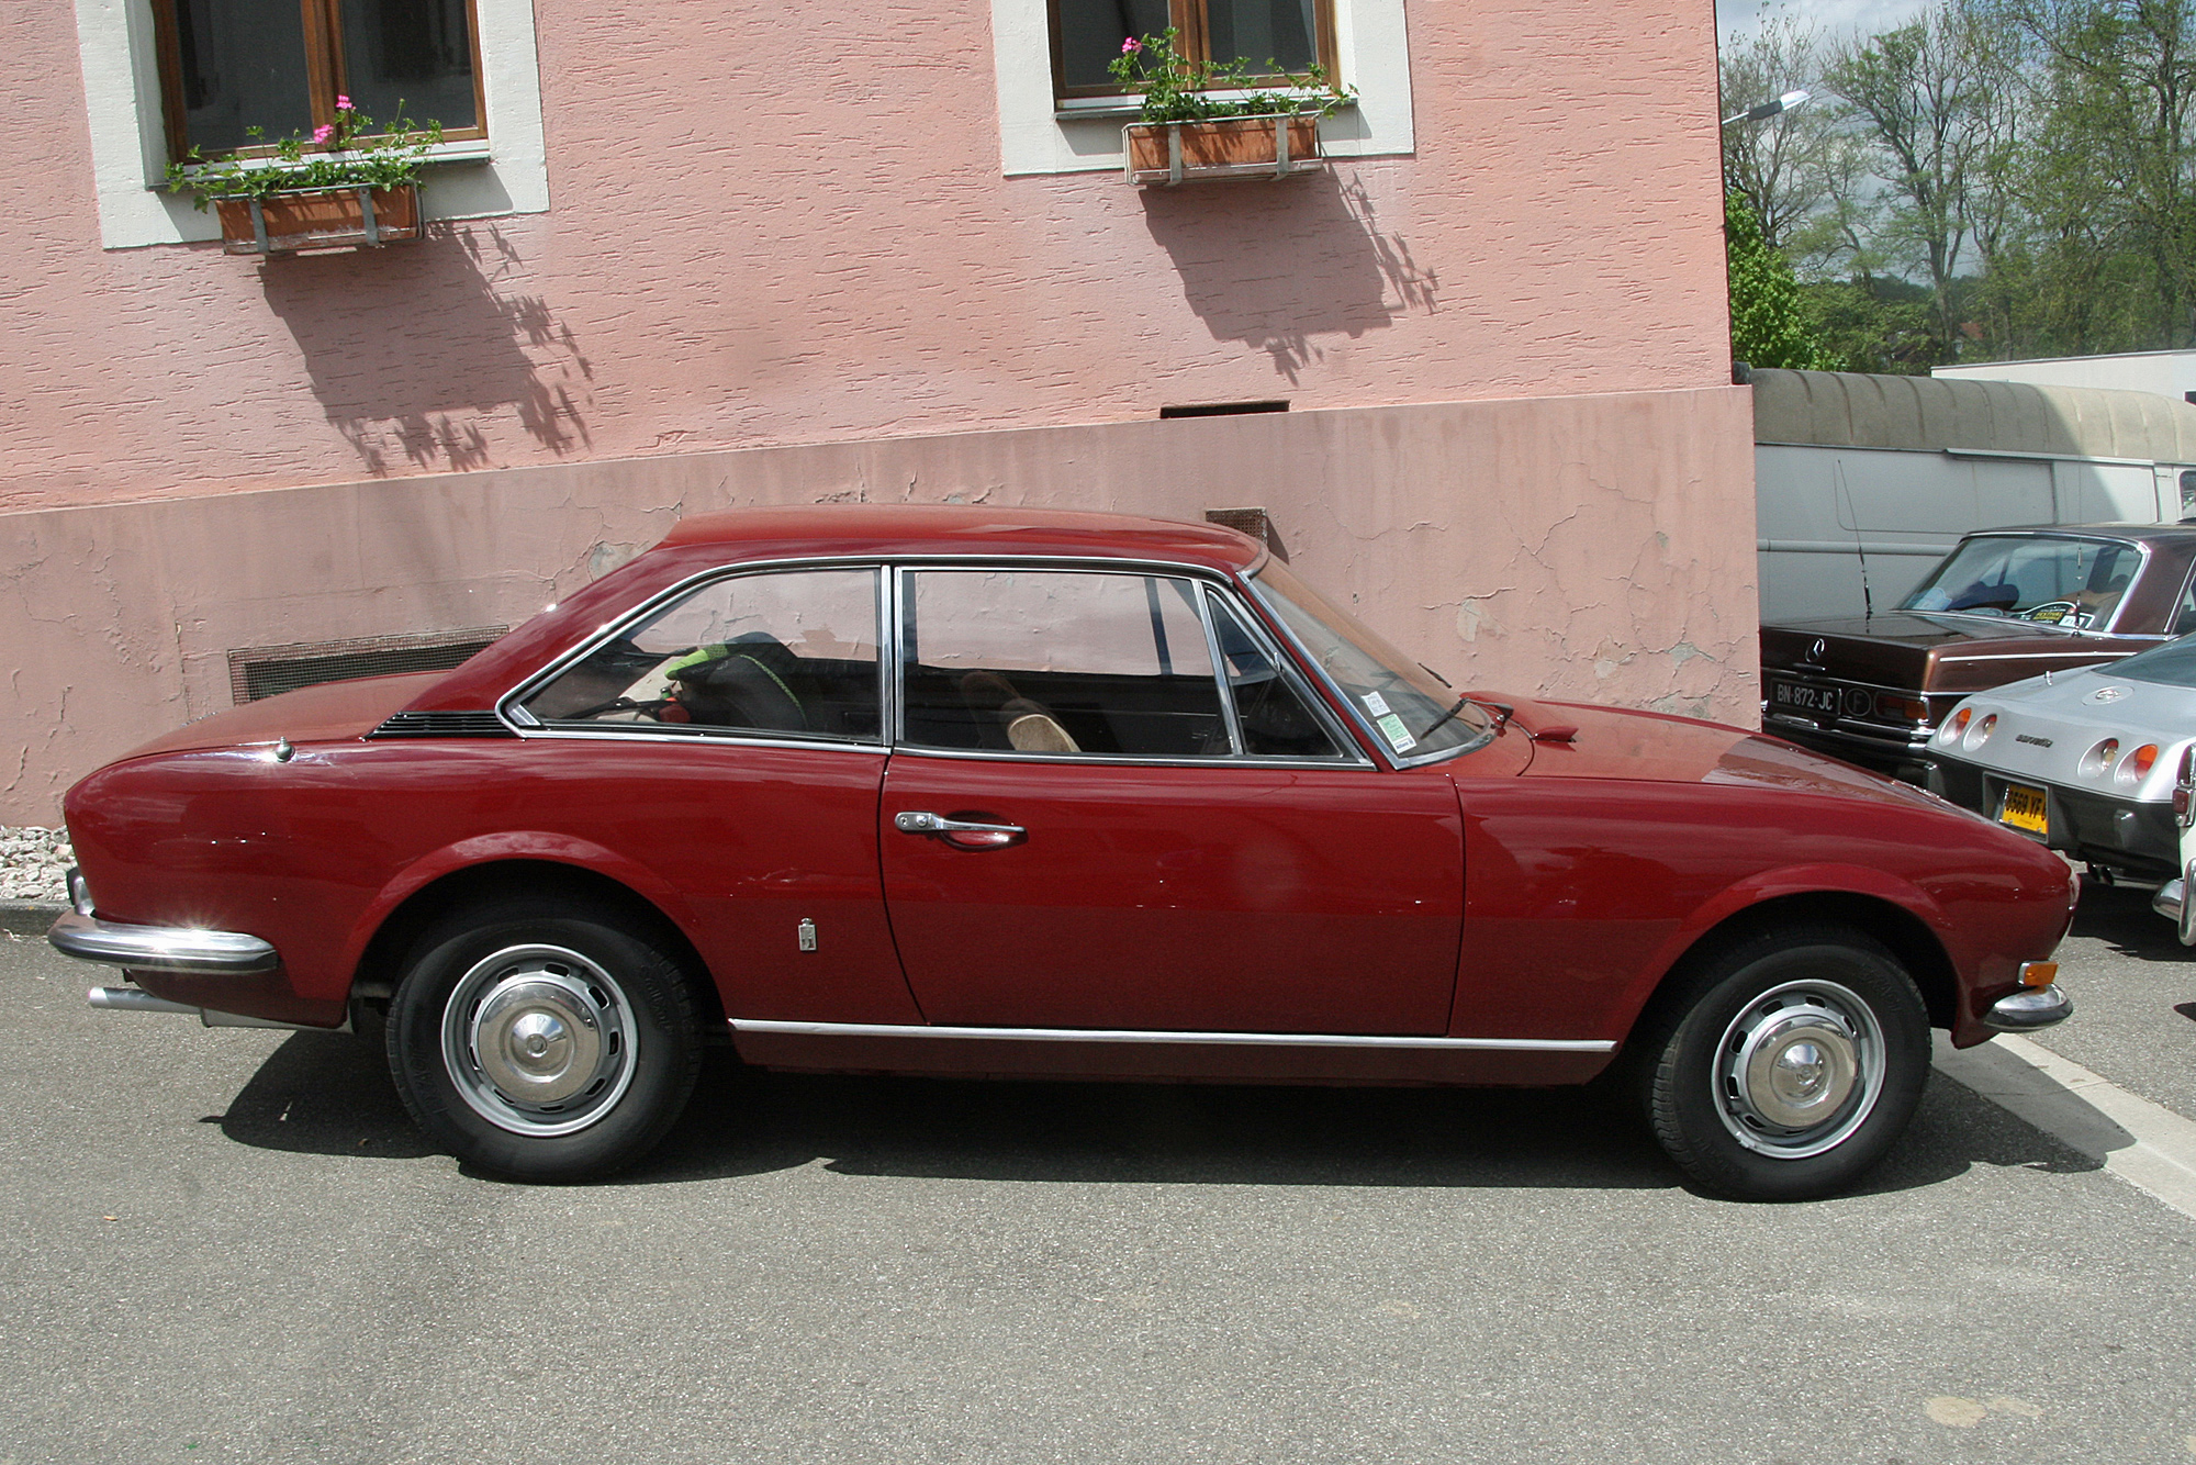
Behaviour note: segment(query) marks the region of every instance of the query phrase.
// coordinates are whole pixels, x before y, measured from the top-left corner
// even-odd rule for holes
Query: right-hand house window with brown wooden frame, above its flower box
[[[1131,37],[1175,29],[1190,61],[1250,61],[1252,75],[1335,72],[1329,0],[1052,0],[1054,94],[1113,97],[1107,66]]]

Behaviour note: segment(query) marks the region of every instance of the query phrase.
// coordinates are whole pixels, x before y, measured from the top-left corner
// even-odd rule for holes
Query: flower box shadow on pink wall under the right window
[[[1320,354],[1313,336],[1355,338],[1438,305],[1434,272],[1379,231],[1364,184],[1333,171],[1144,189],[1144,224],[1212,338],[1265,351],[1291,384]]]

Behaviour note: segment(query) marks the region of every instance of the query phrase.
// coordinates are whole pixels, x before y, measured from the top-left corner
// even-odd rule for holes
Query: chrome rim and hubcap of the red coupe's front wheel
[[[1836,982],[1785,982],[1724,1028],[1715,1105],[1746,1149],[1805,1160],[1831,1149],[1875,1109],[1884,1032]]]

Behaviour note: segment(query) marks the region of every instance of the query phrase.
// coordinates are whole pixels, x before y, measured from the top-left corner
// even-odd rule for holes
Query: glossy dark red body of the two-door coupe
[[[2055,857],[1917,791],[1730,727],[1500,694],[1513,716],[1493,742],[1416,767],[1394,767],[1355,723],[1359,767],[501,725],[369,736],[395,712],[488,714],[705,571],[977,556],[1177,564],[1241,584],[1261,551],[1223,529],[1085,514],[692,518],[455,672],[268,698],[86,778],[68,826],[99,918],[259,936],[281,953],[272,973],[141,982],[222,1013],[334,1026],[369,942],[408,898],[457,872],[549,861],[661,912],[733,1019],[1175,1035],[738,1032],[760,1063],[1555,1083],[1605,1065],[1599,1045],[1625,1039],[1671,966],[1763,901],[1845,894],[1908,912],[1950,962],[1959,1043],[1987,1037],[1979,1013],[2018,984],[2020,962],[2049,955],[2071,916]],[[1340,714],[1315,668],[1302,670]],[[894,828],[903,810],[1017,824],[1028,839],[955,850]],[[804,922],[815,949],[802,947]],[[1192,1041],[1223,1032],[1526,1045]]]

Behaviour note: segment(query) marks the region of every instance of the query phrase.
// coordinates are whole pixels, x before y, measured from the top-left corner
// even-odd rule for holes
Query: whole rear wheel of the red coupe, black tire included
[[[512,1179],[608,1175],[694,1092],[694,988],[665,942],[610,912],[496,901],[415,942],[389,1004],[389,1072],[459,1160]]]

